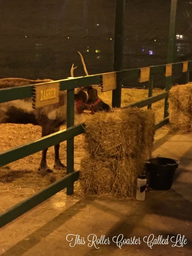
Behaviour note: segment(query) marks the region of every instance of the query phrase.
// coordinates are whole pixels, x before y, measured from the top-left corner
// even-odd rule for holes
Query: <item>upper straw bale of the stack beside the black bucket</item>
[[[152,111],[127,108],[113,109],[110,113],[96,113],[86,122],[87,151],[92,157],[136,157],[140,154],[140,148],[151,138],[143,137],[145,129],[154,135]]]

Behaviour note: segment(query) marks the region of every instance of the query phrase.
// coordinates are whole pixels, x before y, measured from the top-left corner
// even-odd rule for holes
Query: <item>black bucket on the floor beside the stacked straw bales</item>
[[[179,161],[166,157],[151,158],[147,161],[149,186],[157,190],[170,189]]]

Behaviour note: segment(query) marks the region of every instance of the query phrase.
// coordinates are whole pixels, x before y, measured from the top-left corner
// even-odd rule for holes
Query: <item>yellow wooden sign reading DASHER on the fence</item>
[[[41,108],[59,102],[59,82],[35,84],[33,108]]]

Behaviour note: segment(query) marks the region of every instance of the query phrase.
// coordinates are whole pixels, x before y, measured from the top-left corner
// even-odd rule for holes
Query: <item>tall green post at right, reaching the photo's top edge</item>
[[[171,2],[171,14],[169,23],[169,43],[168,43],[168,57],[167,63],[173,63],[174,61],[174,49],[175,49],[175,20],[177,12],[177,0]],[[166,91],[172,87],[172,76],[166,77]],[[168,114],[168,98],[165,99],[164,118]]]

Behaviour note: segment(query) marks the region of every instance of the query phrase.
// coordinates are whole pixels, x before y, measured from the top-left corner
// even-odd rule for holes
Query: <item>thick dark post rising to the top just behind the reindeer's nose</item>
[[[116,0],[113,71],[122,70],[125,0]],[[121,107],[122,74],[117,73],[117,88],[112,92],[112,107]]]

